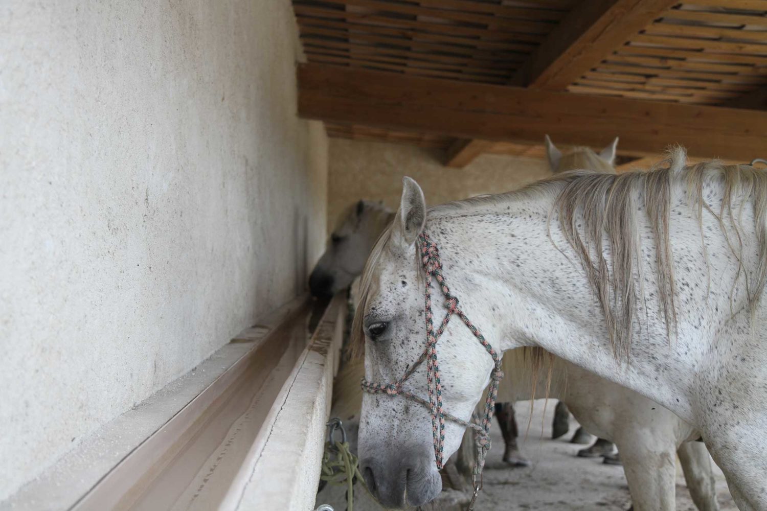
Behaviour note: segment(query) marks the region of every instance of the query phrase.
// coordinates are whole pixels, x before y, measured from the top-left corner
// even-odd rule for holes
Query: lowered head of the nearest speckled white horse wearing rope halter
[[[455,258],[449,261],[455,275],[431,279],[430,299],[426,296],[426,215],[421,188],[403,179],[397,215],[368,258],[353,326],[365,353],[361,468],[370,491],[384,506],[395,508],[420,506],[437,496],[442,487],[439,466],[458,449],[499,356],[489,356],[457,315],[440,329],[448,306],[455,310],[457,304],[445,292],[447,280],[455,287],[449,291],[456,292],[453,296],[463,295],[467,303],[484,301],[478,286],[461,280],[463,272],[456,271],[461,264],[454,263]],[[437,231],[441,229],[435,229],[434,236],[442,237]],[[445,268],[447,272],[448,264]],[[470,316],[483,329],[492,326],[482,313],[472,310]],[[426,335],[438,330],[432,361],[430,353],[426,356]],[[439,413],[433,415],[436,405]]]

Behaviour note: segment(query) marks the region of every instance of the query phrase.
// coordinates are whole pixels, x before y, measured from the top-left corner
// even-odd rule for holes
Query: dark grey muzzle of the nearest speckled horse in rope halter
[[[423,506],[442,491],[433,457],[420,449],[396,449],[389,457],[366,457],[361,471],[370,493],[387,509]]]

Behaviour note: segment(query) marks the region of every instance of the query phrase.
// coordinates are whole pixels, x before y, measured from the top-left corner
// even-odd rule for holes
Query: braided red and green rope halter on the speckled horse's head
[[[388,384],[368,382],[362,379],[362,390],[372,394],[386,394],[390,396],[401,395],[404,398],[416,401],[426,406],[431,411],[432,434],[434,441],[434,460],[437,470],[443,468],[443,451],[445,447],[445,419],[456,422],[464,427],[471,427],[474,430],[474,447],[476,450],[476,465],[472,471],[472,486],[474,493],[469,503],[468,511],[474,509],[476,497],[479,490],[482,490],[482,470],[485,468],[485,459],[490,450],[490,424],[492,415],[495,411],[495,398],[498,396],[498,386],[503,372],[501,370],[501,358],[498,352],[490,346],[482,332],[469,321],[463,310],[458,306],[458,298],[450,293],[449,287],[442,273],[442,260],[439,258],[439,249],[436,244],[430,240],[429,234],[423,233],[418,237],[418,250],[421,257],[424,273],[426,274],[426,300],[424,310],[426,312],[426,349],[420,355],[418,360],[405,372],[402,378],[397,382]],[[439,328],[434,329],[434,316],[432,312],[431,284],[432,278],[435,278],[442,290],[446,300],[447,313],[439,324]],[[466,422],[451,414],[446,413],[442,404],[442,384],[439,381],[439,361],[436,355],[436,343],[445,332],[446,326],[453,315],[458,316],[461,321],[469,328],[474,337],[492,356],[494,367],[490,373],[490,386],[485,400],[485,414],[482,419],[476,414],[472,414],[472,422]],[[414,395],[410,391],[403,390],[402,386],[416,372],[416,369],[426,360],[426,388],[429,393],[429,401],[420,396]]]

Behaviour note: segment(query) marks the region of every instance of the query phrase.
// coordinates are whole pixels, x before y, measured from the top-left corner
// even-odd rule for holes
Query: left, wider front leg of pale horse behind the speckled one
[[[676,445],[643,431],[618,441],[634,511],[676,509]]]

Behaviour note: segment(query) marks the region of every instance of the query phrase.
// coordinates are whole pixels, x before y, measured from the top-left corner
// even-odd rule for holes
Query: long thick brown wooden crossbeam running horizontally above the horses
[[[300,64],[298,113],[311,119],[463,139],[601,146],[746,160],[764,151],[767,112],[629,100]]]

